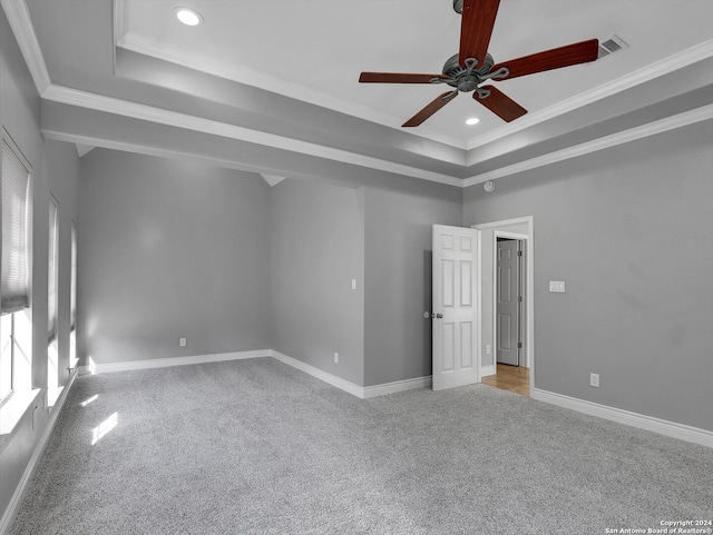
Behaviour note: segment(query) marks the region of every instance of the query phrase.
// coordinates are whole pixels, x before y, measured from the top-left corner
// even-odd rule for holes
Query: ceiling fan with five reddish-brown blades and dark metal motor
[[[475,100],[502,120],[510,122],[527,113],[527,110],[496,87],[481,86],[482,82],[509,80],[597,59],[599,41],[589,39],[496,63],[492,56],[488,53],[488,43],[499,4],[500,0],[453,0],[453,9],[461,14],[460,50],[446,61],[442,75],[362,72],[359,81],[361,83],[446,83],[455,88],[438,96],[406,121],[403,127],[418,127],[453,100],[460,91],[475,91],[472,93]]]

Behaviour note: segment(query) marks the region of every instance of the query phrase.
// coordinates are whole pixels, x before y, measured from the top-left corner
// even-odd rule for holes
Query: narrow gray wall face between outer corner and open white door
[[[462,190],[368,187],[364,208],[364,385],[431,375],[431,227],[461,225]]]

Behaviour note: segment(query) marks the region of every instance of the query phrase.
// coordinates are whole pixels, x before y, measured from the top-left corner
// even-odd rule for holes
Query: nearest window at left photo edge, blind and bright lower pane
[[[3,130],[2,247],[0,262],[0,404],[13,392],[29,390],[31,350],[20,340],[31,339],[28,285],[29,162]]]

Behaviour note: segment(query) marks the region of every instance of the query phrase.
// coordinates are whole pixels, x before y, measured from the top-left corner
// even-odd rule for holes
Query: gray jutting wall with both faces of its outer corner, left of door
[[[359,386],[431,374],[431,226],[460,225],[462,192],[402,187],[273,188],[274,349]]]

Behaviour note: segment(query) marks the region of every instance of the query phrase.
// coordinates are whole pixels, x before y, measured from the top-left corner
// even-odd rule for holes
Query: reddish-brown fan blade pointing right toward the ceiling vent
[[[587,63],[597,59],[598,53],[599,41],[597,39],[589,39],[588,41],[576,42],[574,44],[567,44],[565,47],[554,48],[551,50],[545,50],[544,52],[497,63],[490,69],[490,72],[495,72],[500,67],[507,67],[510,73],[504,79],[509,80],[518,76],[533,75],[535,72],[559,69],[560,67],[569,67],[572,65]]]

